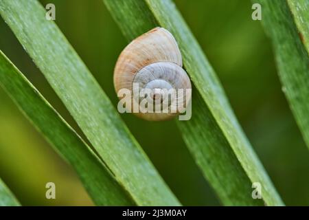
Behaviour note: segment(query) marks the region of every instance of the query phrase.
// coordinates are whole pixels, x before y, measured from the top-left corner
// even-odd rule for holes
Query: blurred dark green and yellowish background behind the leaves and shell
[[[42,0],[114,105],[113,67],[127,42],[102,0]],[[240,124],[287,205],[309,205],[309,153],[288,108],[269,39],[251,19],[251,1],[176,0],[225,88]],[[78,126],[4,21],[0,49],[75,129]],[[194,100],[193,100],[194,101]],[[194,109],[192,109],[194,111]],[[183,205],[218,205],[174,121],[122,115]],[[154,135],[155,134],[155,135]],[[73,169],[49,146],[0,88],[0,177],[22,205],[93,205]],[[45,184],[56,199],[45,199]]]

